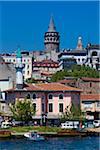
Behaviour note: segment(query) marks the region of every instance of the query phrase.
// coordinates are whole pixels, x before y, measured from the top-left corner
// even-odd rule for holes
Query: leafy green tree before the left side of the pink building
[[[22,101],[17,100],[15,104],[10,106],[10,109],[15,120],[24,121],[26,123],[31,121],[32,116],[36,113],[31,102],[27,99]]]

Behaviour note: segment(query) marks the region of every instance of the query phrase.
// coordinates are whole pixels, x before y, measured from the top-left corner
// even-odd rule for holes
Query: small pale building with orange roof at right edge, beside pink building
[[[82,94],[81,109],[87,120],[100,119],[100,95],[99,94]]]

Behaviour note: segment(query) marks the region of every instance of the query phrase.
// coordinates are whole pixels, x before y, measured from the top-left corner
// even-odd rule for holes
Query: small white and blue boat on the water
[[[33,141],[44,141],[45,140],[45,138],[43,136],[41,136],[40,134],[38,134],[37,132],[28,132],[28,133],[25,133],[24,136]]]

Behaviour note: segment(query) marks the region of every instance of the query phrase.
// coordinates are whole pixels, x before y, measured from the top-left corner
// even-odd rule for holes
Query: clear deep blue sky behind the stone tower
[[[78,36],[84,47],[99,43],[99,2],[0,2],[0,52],[43,50],[51,14],[60,33],[60,48],[75,48]]]

